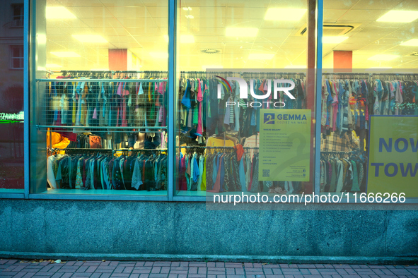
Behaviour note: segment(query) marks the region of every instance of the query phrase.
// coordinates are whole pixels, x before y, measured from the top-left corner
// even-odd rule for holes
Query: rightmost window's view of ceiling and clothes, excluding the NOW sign
[[[324,2],[320,192],[366,193],[371,116],[418,114],[418,6],[337,3]]]

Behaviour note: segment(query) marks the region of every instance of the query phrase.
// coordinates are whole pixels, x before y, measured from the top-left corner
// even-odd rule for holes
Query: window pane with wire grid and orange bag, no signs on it
[[[36,5],[31,193],[167,195],[168,1]]]

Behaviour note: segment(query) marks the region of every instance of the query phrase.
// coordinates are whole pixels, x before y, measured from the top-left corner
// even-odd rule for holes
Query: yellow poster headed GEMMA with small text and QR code
[[[308,109],[260,109],[260,181],[309,181]]]

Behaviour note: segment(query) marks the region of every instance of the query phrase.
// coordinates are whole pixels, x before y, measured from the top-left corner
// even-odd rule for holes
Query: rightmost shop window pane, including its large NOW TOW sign
[[[418,197],[417,2],[336,3],[324,4],[320,192]]]

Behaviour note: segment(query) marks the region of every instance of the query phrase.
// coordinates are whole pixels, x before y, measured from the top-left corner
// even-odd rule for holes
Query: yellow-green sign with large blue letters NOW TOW
[[[371,116],[368,193],[418,197],[418,116]]]

